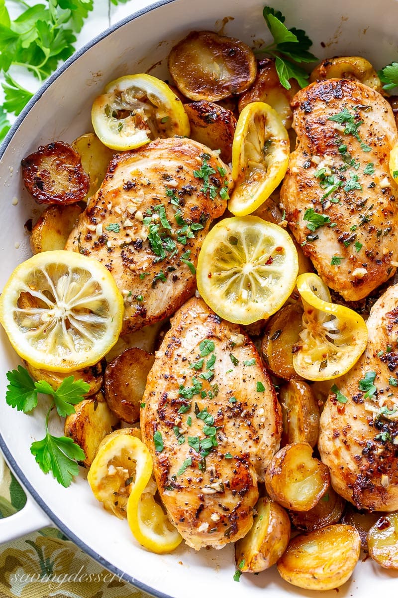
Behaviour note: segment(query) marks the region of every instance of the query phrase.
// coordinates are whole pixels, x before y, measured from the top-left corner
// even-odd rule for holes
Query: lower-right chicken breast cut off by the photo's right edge
[[[390,286],[375,303],[367,325],[365,353],[337,381],[347,402],[339,402],[336,393],[326,402],[319,451],[341,496],[359,509],[394,511],[398,509],[398,285]]]

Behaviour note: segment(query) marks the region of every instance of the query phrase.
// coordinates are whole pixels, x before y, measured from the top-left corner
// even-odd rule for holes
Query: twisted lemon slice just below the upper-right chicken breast
[[[303,300],[303,331],[293,367],[307,380],[332,380],[345,374],[366,347],[368,329],[348,307],[331,303],[329,289],[316,274],[301,274],[297,289]]]

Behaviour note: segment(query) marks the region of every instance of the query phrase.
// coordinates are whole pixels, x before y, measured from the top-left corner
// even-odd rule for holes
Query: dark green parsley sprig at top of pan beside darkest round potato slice
[[[316,56],[308,51],[312,45],[311,39],[303,29],[288,29],[283,25],[285,17],[279,10],[266,6],[263,9],[263,17],[274,41],[258,52],[274,57],[276,72],[283,87],[291,88],[289,79],[295,79],[301,87],[306,87],[309,74],[298,63],[317,60]]]

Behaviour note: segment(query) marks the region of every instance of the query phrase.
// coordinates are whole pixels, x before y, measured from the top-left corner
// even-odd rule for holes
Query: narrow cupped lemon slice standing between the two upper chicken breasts
[[[236,124],[232,144],[235,189],[228,208],[236,216],[254,212],[282,181],[290,143],[279,114],[264,102],[251,102]]]

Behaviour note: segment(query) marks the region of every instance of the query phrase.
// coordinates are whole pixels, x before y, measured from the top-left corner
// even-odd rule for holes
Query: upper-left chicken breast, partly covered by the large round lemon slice
[[[122,334],[171,315],[195,289],[202,240],[226,209],[229,168],[190,139],[116,155],[66,249],[91,255],[125,298]]]

